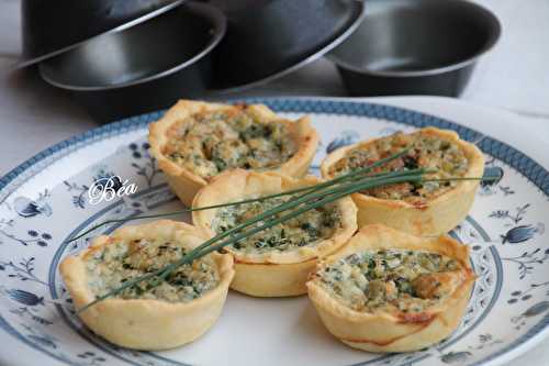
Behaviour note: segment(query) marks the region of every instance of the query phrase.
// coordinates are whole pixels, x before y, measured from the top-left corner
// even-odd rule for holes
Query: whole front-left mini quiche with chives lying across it
[[[124,281],[163,268],[208,240],[186,223],[161,220],[98,236],[60,273],[77,309]],[[217,320],[234,276],[233,258],[212,253],[183,265],[165,281],[143,281],[79,313],[93,332],[120,346],[167,350],[204,334]]]

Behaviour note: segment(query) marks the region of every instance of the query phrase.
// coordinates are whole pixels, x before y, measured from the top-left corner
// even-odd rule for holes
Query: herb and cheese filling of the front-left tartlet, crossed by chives
[[[182,245],[165,240],[113,241],[87,256],[88,286],[97,297],[105,295],[127,280],[173,263],[187,251]],[[188,302],[214,289],[219,282],[214,259],[203,256],[190,265],[180,266],[158,286],[154,280],[142,281],[116,297]]]

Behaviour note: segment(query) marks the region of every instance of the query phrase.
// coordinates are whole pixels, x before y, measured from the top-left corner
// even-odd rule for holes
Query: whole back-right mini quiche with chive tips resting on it
[[[453,131],[426,127],[341,147],[322,163],[326,179],[368,166],[411,147],[402,157],[374,173],[414,168],[437,169],[426,178],[482,177],[481,151],[459,138]],[[358,208],[359,228],[381,223],[415,235],[449,232],[468,214],[479,180],[426,181],[379,187],[352,195]]]

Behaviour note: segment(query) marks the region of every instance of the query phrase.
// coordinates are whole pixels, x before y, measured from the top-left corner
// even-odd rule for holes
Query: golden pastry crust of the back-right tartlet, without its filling
[[[468,158],[468,168],[463,176],[482,177],[484,156],[477,146],[460,140],[453,131],[426,127],[419,132],[457,144]],[[321,165],[322,176],[326,179],[334,178],[332,168],[338,160],[344,158],[348,152],[357,147],[368,146],[377,140],[345,146],[333,152],[325,157]],[[452,189],[419,204],[405,200],[380,199],[362,193],[354,193],[351,197],[358,208],[359,228],[381,223],[411,234],[427,236],[440,235],[456,228],[469,213],[478,187],[478,180],[458,181]]]

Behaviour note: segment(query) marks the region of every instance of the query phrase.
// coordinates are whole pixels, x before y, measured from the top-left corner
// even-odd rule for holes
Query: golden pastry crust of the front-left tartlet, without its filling
[[[88,285],[86,259],[113,240],[166,239],[195,247],[208,235],[201,230],[169,220],[138,226],[125,226],[110,236],[98,236],[91,246],[78,256],[69,256],[60,264],[60,273],[77,309],[96,299]],[[128,348],[168,350],[190,343],[204,334],[217,320],[225,302],[234,269],[233,258],[210,254],[219,273],[215,288],[189,302],[168,302],[156,299],[109,298],[79,313],[94,333]]]

